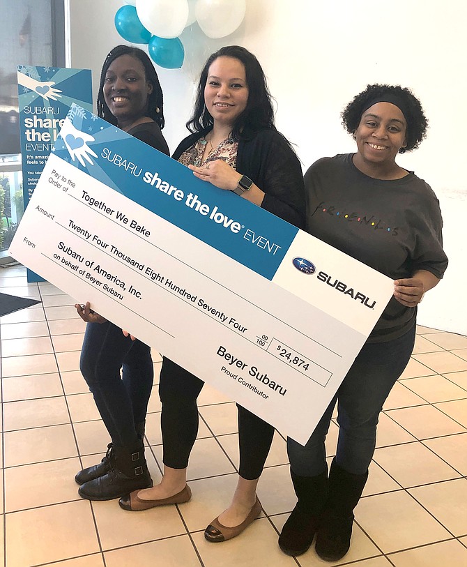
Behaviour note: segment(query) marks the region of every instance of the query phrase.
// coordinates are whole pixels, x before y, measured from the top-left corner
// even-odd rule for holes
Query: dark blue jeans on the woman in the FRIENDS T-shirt
[[[376,446],[376,425],[392,386],[404,372],[413,351],[415,325],[388,342],[365,342],[305,447],[287,439],[291,469],[298,476],[326,470],[324,441],[337,401],[336,462],[347,472],[365,474]]]

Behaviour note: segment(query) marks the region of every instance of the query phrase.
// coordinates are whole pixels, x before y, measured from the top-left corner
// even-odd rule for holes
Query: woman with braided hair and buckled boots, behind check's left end
[[[162,89],[144,51],[118,45],[107,55],[97,106],[102,119],[169,155],[161,132]],[[79,471],[75,481],[83,498],[109,500],[153,485],[143,445],[154,375],[151,348],[125,337],[89,302],[75,307],[87,323],[79,368],[112,439],[102,461]]]

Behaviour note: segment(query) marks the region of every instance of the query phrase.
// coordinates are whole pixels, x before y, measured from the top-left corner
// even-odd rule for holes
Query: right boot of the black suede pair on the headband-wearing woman
[[[351,474],[332,461],[329,473],[329,497],[316,537],[316,553],[325,561],[338,561],[349,551],[353,508],[357,506],[367,483],[365,474]]]

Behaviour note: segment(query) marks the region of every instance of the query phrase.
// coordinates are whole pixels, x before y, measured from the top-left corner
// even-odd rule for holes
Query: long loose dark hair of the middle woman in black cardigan
[[[201,71],[199,77],[197,98],[194,103],[192,117],[186,126],[192,133],[204,132],[213,127],[213,116],[211,116],[204,104],[204,87],[208,80],[208,70],[217,57],[233,57],[243,63],[248,86],[248,100],[245,110],[238,116],[232,129],[234,139],[246,137],[248,134],[270,128],[275,130],[274,110],[272,98],[266,82],[263,69],[258,59],[239,45],[227,45],[211,54]]]

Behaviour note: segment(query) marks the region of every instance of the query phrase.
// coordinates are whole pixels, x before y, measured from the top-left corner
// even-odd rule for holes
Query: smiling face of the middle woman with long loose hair
[[[234,126],[248,102],[245,66],[234,57],[220,56],[210,64],[204,103],[214,122]]]

